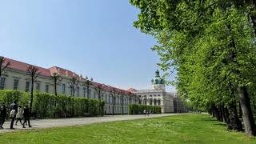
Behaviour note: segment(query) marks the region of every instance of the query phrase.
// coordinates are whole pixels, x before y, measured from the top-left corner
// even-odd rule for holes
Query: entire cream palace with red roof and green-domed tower
[[[10,62],[10,66],[7,69],[7,76],[2,76],[0,79],[0,90],[23,90],[30,92],[31,82],[30,76],[27,73],[27,68],[30,64],[24,62],[18,62],[16,60],[6,58],[6,62]],[[113,86],[106,86],[104,84],[93,82],[87,91],[85,81],[87,78],[83,78],[82,74],[78,75],[70,70],[63,69],[58,66],[53,66],[48,69],[36,66],[40,73],[37,78],[37,82],[34,83],[34,90],[39,92],[46,92],[54,94],[54,81],[51,76],[59,74],[62,81],[58,83],[58,94],[72,94],[70,89],[70,79],[78,78],[78,87],[75,91],[75,96],[82,98],[94,98],[98,99],[98,94],[94,90],[94,86],[102,85],[104,87],[102,100],[105,101],[105,113],[112,114],[113,98],[110,96],[110,90],[121,91],[122,94],[118,94],[115,100],[114,114],[128,114],[129,104],[142,104],[148,106],[161,106],[162,113],[174,112],[174,96],[167,93],[165,89],[165,82],[160,78],[159,71],[156,72],[156,76],[152,79],[152,90],[121,90]],[[89,92],[87,95],[87,92]]]

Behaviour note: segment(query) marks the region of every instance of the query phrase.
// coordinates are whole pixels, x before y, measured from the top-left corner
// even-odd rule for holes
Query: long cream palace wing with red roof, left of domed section
[[[0,78],[0,90],[23,90],[26,92],[30,92],[31,90],[31,82],[30,76],[27,75],[27,68],[30,64],[24,62],[18,62],[16,60],[6,58],[6,62],[10,62],[10,66],[8,68],[8,76],[2,76]],[[78,75],[70,70],[63,69],[58,66],[50,67],[49,69],[42,68],[36,66],[38,68],[37,82],[34,83],[34,90],[38,90],[39,92],[46,92],[54,94],[54,86],[53,80],[50,76],[54,73],[60,74],[62,77],[62,82],[60,82],[57,86],[58,94],[71,94],[70,89],[70,79],[74,76],[78,78],[78,88],[75,91],[74,96],[77,97],[85,97],[85,98],[93,98],[98,99],[98,95],[94,90],[94,86],[100,83],[93,82],[94,86],[90,86],[89,95],[87,96],[87,88],[84,86],[85,78],[82,77],[82,74]],[[105,86],[105,92],[102,95],[102,100],[105,101],[105,112],[106,114],[112,114],[113,108],[113,100],[109,94],[109,90],[113,89],[113,86]],[[117,91],[120,91],[118,88],[114,88]],[[122,90],[124,96],[118,94],[116,97],[114,114],[122,114],[122,103],[123,103],[123,114],[128,114],[128,105],[129,104],[138,104],[138,98],[130,95],[131,93],[127,90]]]

